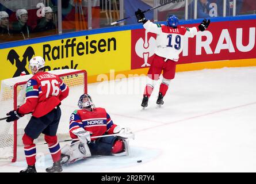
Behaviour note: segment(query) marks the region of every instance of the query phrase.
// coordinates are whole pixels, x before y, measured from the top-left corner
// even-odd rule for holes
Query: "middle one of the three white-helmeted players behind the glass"
[[[28,11],[25,9],[18,9],[16,11],[17,22],[12,25],[14,34],[21,34],[22,38],[29,39],[29,34],[31,32],[31,27],[27,25],[28,22]]]

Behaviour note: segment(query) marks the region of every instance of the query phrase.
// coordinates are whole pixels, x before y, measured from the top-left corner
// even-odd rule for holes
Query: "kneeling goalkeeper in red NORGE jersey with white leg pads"
[[[134,139],[134,135],[128,128],[113,124],[105,109],[94,107],[88,94],[81,95],[78,107],[80,110],[75,110],[70,117],[73,141],[61,150],[62,164],[74,163],[91,155],[129,155],[128,138]]]

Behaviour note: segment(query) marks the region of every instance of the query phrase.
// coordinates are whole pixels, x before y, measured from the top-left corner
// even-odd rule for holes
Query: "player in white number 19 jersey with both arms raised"
[[[186,28],[178,26],[178,17],[170,15],[167,17],[167,25],[155,24],[150,20],[146,20],[142,10],[135,11],[137,22],[142,22],[143,27],[151,33],[156,33],[156,51],[152,60],[150,69],[148,70],[148,78],[150,78],[145,87],[142,106],[148,106],[148,98],[154,90],[155,82],[158,81],[161,72],[163,71],[163,79],[160,85],[158,99],[156,104],[163,105],[163,97],[168,90],[171,79],[174,79],[176,64],[179,59],[179,54],[184,47],[186,37],[194,37],[197,32],[204,31],[208,28],[210,20],[204,19],[198,27]]]

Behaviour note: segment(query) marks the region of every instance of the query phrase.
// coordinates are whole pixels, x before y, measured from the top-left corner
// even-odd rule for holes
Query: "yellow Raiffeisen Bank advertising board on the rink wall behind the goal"
[[[45,70],[83,69],[88,76],[131,70],[131,30],[90,34],[0,49],[0,80],[29,72],[33,56],[45,59]]]

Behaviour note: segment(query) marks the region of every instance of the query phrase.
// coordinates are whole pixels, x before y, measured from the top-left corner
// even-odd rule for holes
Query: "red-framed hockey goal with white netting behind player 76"
[[[57,135],[59,139],[64,139],[68,137],[70,115],[77,109],[78,98],[83,93],[87,93],[87,72],[85,70],[72,69],[48,72],[59,75],[62,81],[70,88],[68,97],[65,98],[62,101],[62,105],[60,105],[62,117],[60,118]],[[1,81],[0,118],[6,117],[7,112],[17,109],[18,105],[24,104],[26,82],[31,77],[32,74]],[[17,145],[22,145],[21,137],[30,116],[30,114],[27,114],[18,121],[9,123],[5,120],[0,121],[0,160],[10,159],[12,162],[16,162]]]

